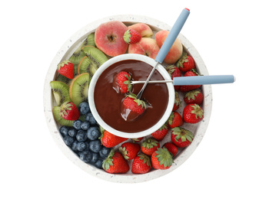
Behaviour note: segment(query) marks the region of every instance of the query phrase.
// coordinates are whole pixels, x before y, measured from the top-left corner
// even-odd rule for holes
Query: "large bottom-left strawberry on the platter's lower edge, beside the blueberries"
[[[128,162],[114,149],[111,149],[108,158],[102,162],[102,168],[110,174],[125,174],[129,171]]]

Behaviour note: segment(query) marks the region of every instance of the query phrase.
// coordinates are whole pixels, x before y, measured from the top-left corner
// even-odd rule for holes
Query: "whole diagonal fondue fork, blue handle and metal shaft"
[[[148,79],[145,81],[140,92],[138,93],[137,99],[141,99],[141,95],[145,90],[145,87],[147,86],[148,81],[150,80],[152,74],[154,73],[155,68],[158,66],[158,64],[161,64],[165,59],[166,55],[168,54],[168,51],[171,49],[171,46],[174,44],[176,38],[178,37],[178,34],[181,31],[181,28],[185,24],[185,21],[187,20],[189,14],[190,14],[190,11],[188,8],[184,8],[181,11],[181,14],[179,15],[178,19],[175,21],[175,24],[173,25],[173,27],[171,28],[171,31],[169,32],[167,38],[165,39],[164,44],[161,46],[157,57],[155,57],[155,61],[156,61],[155,66],[151,70],[151,73],[149,74]]]

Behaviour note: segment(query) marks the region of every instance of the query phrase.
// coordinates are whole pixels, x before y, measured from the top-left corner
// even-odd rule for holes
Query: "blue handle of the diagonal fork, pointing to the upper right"
[[[179,17],[175,21],[175,24],[171,28],[171,31],[169,32],[167,38],[165,39],[164,44],[161,46],[157,57],[155,57],[155,60],[158,63],[161,64],[163,60],[165,60],[168,51],[170,51],[172,44],[175,43],[175,40],[178,37],[178,34],[180,33],[181,28],[185,24],[185,21],[187,20],[189,14],[190,11],[186,8],[181,11],[181,15],[179,15]]]

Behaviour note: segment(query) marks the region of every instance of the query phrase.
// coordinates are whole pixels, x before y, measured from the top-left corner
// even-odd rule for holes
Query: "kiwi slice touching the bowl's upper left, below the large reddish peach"
[[[97,47],[85,46],[82,51],[91,60],[91,65],[97,69],[108,60],[108,57]]]

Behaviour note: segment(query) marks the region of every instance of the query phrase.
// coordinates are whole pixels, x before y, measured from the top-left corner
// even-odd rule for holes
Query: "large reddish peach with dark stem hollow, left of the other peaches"
[[[95,44],[110,57],[125,54],[128,44],[125,43],[123,36],[127,30],[127,26],[121,21],[100,24],[95,30]]]

